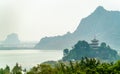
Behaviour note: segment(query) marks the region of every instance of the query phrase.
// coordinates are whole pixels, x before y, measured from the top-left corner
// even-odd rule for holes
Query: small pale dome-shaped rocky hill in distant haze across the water
[[[4,44],[19,44],[20,40],[19,40],[17,34],[12,33],[12,34],[7,36],[7,38],[5,39],[5,41],[3,43]]]

